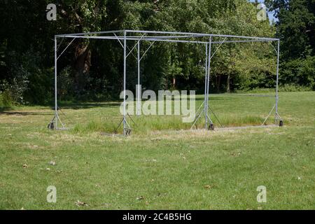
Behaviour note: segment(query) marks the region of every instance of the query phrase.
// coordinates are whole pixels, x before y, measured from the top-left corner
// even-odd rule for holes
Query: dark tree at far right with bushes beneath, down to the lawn
[[[315,1],[267,1],[274,10],[281,38],[280,82],[310,87],[315,78]]]

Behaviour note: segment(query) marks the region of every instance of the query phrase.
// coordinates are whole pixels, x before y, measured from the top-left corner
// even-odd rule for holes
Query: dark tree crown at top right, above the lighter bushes
[[[267,1],[279,21],[276,36],[281,38],[283,61],[314,55],[315,2],[312,0]]]

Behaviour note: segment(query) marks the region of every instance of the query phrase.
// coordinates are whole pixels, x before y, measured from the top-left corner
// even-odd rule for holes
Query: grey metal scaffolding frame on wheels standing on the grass
[[[132,36],[128,35],[132,34]],[[111,35],[111,36],[109,36]],[[57,38],[72,38],[71,42],[66,45],[66,48],[57,55]],[[58,106],[57,106],[57,60],[60,56],[66,51],[67,48],[73,43],[76,38],[90,38],[90,39],[105,39],[105,40],[116,40],[123,47],[124,54],[124,62],[123,62],[123,118],[120,122],[120,125],[123,124],[123,134],[130,134],[131,128],[127,122],[127,116],[129,114],[126,113],[126,76],[127,76],[127,57],[132,54],[137,59],[138,66],[138,87],[137,87],[137,115],[139,116],[140,110],[140,66],[141,59],[146,55],[148,50],[152,47],[153,43],[158,41],[169,42],[169,43],[200,43],[205,46],[205,78],[204,78],[204,102],[197,110],[195,120],[193,122],[193,126],[197,123],[197,120],[204,115],[205,118],[205,129],[214,130],[214,124],[209,116],[209,110],[211,113],[216,114],[211,110],[209,106],[209,80],[210,80],[210,71],[211,71],[211,58],[214,57],[216,51],[223,43],[251,43],[251,42],[272,42],[277,41],[277,49],[276,51],[276,94],[275,94],[275,104],[272,107],[272,110],[269,112],[268,116],[265,118],[262,125],[265,125],[265,122],[274,111],[274,122],[277,124],[278,122],[280,126],[283,125],[283,121],[278,113],[278,104],[279,104],[279,94],[278,94],[278,80],[279,80],[279,38],[266,38],[266,37],[257,37],[257,36],[235,36],[235,35],[223,35],[223,34],[201,34],[201,33],[190,33],[190,32],[177,32],[177,31],[141,31],[141,30],[116,30],[116,31],[96,31],[96,32],[86,32],[86,33],[78,33],[78,34],[59,34],[55,35],[55,116],[52,118],[48,127],[50,129],[62,130],[64,129],[64,124],[59,118],[58,115]],[[214,38],[223,38],[223,40],[214,41]],[[137,43],[132,47],[132,49],[128,48],[127,41],[137,41]],[[140,43],[141,41],[151,41],[151,45],[144,51],[144,54],[141,56],[140,52]],[[211,46],[214,44],[218,44],[216,51],[211,53]],[[61,45],[61,43],[60,43]],[[133,50],[137,49],[137,56],[133,54]],[[127,52],[129,50],[129,52]],[[259,95],[262,96],[263,95]],[[270,97],[270,96],[268,96]],[[200,110],[202,109],[203,110]],[[129,116],[130,117],[130,116]],[[218,118],[216,118],[218,120]],[[62,127],[59,127],[58,122]],[[218,120],[220,123],[220,121]],[[209,123],[209,125],[208,125]],[[221,123],[220,123],[221,124]],[[120,126],[118,125],[118,127]],[[221,124],[221,126],[223,126]]]

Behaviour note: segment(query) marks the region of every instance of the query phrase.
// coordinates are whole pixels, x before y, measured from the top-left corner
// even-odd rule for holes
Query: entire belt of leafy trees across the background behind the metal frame
[[[246,0],[62,0],[57,2],[57,21],[45,19],[43,12],[48,3],[48,0],[4,1],[0,8],[0,81],[6,81],[11,86],[10,91],[15,91],[16,103],[52,101],[55,34],[116,29],[269,37],[275,34],[274,25],[258,21],[255,3]],[[314,88],[313,5],[314,1],[307,0],[269,3],[279,18],[276,35],[281,38],[281,84]],[[58,55],[69,41],[58,39]],[[214,37],[213,41],[223,41],[223,38]],[[130,48],[135,43],[128,41]],[[141,53],[148,45],[141,43]],[[217,47],[213,45],[213,52]],[[203,92],[204,53],[204,45],[154,43],[141,60],[144,89]],[[90,59],[85,54],[89,54]],[[221,45],[211,61],[211,91],[274,87],[275,58],[274,48],[269,43]],[[58,59],[60,99],[117,98],[123,89],[122,64],[123,50],[117,41],[73,41]],[[134,64],[136,61],[130,55],[127,61],[127,88],[130,90],[134,90],[137,83]],[[173,80],[176,80],[175,85]]]

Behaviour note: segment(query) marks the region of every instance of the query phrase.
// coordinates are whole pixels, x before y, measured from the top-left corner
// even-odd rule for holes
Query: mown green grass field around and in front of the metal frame
[[[274,98],[212,94],[210,105],[224,126],[260,125]],[[46,128],[48,107],[1,110],[0,209],[315,209],[315,92],[280,93],[284,127],[190,131],[179,116],[134,116],[130,137],[104,134],[117,102],[61,106],[66,131]]]

